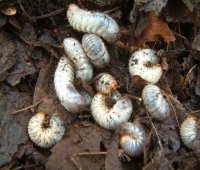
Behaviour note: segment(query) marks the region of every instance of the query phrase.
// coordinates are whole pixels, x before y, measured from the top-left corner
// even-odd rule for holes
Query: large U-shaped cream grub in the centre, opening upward
[[[106,103],[106,96],[103,93],[97,93],[91,103],[92,116],[101,127],[114,129],[122,122],[126,122],[131,117],[133,105],[128,97],[121,97],[109,108]]]

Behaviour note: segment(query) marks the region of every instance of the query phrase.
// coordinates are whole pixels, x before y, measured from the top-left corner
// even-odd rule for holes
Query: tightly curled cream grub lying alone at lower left
[[[60,117],[54,114],[50,119],[43,112],[34,115],[28,123],[30,139],[42,148],[49,148],[60,141],[65,127]]]

